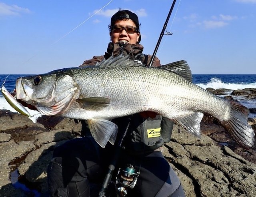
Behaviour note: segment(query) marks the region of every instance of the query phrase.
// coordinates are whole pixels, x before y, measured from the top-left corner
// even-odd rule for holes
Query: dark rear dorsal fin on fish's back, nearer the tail
[[[192,73],[191,73],[190,67],[188,66],[187,62],[184,60],[172,62],[170,64],[165,64],[157,68],[174,72],[179,76],[184,77],[189,82],[192,82]]]

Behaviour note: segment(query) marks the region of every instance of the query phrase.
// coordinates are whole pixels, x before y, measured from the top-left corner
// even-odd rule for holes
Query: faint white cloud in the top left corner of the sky
[[[0,16],[18,16],[20,13],[30,13],[28,8],[21,8],[17,5],[7,5],[0,2]]]

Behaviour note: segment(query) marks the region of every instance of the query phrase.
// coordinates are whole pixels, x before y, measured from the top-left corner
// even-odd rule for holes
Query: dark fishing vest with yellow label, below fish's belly
[[[117,141],[122,138],[129,123],[122,148],[132,155],[150,153],[165,142],[169,142],[173,127],[173,121],[162,118],[160,115],[154,118],[143,118],[139,113],[112,119],[112,122],[118,126]]]

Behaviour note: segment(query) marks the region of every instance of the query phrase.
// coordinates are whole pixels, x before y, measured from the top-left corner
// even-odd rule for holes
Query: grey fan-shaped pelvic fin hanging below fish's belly
[[[104,148],[109,141],[114,144],[118,127],[115,123],[105,119],[88,119],[87,120],[92,137]]]

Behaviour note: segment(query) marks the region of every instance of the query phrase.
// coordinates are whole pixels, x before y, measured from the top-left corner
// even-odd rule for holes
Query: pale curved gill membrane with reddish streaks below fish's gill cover
[[[76,92],[77,92],[77,89],[75,88],[75,90],[70,92],[64,99],[55,103],[55,105],[52,105],[50,107],[36,105],[36,108],[43,115],[57,115],[57,114],[63,113],[65,109],[68,108],[70,103],[73,103],[72,100],[75,99]]]

